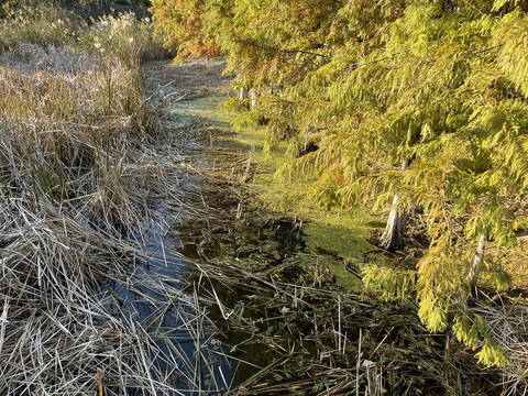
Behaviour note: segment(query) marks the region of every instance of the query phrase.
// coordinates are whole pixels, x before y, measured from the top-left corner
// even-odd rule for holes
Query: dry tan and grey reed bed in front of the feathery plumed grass
[[[201,389],[170,331],[205,342],[204,312],[142,270],[183,191],[139,70],[28,70],[0,67],[0,394]]]

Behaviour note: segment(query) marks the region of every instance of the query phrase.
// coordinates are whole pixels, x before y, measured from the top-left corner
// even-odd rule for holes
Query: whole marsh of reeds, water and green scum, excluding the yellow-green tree
[[[277,178],[288,146],[268,150],[264,125],[241,127],[233,110],[248,103],[224,58],[163,61],[172,54],[131,14],[68,22],[88,32],[73,47],[47,22],[42,32],[59,40],[18,43],[8,33],[26,22],[10,18],[1,395],[527,389],[524,289],[482,285],[468,299],[509,354],[499,369],[479,363],[482,344],[428,331],[415,295],[369,287],[365,268],[416,265],[420,224],[388,253],[377,246],[386,211],[318,206],[314,179]]]

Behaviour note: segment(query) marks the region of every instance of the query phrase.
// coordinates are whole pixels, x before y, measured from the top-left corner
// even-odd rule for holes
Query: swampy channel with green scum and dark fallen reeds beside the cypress
[[[284,152],[265,153],[257,129],[232,132],[219,65],[156,64],[145,74],[164,76],[157,85],[182,98],[168,117],[172,133],[190,147],[200,197],[189,202],[201,205],[202,217],[173,231],[178,252],[194,263],[187,282],[206,301],[211,343],[229,362],[220,393],[494,394],[498,373],[479,366],[452,334],[428,333],[414,301],[365,293],[361,265],[395,261],[369,242],[383,224],[361,207],[292,200],[302,185],[277,187],[273,173]],[[198,82],[199,74],[215,79],[206,70],[216,70],[223,91]],[[196,90],[167,85],[179,75],[190,75]]]

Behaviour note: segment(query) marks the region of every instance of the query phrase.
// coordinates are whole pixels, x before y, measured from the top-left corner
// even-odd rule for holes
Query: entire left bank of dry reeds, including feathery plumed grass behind
[[[0,19],[0,394],[175,394],[163,331],[118,296],[157,287],[131,267],[163,227],[156,202],[182,195],[178,166],[154,163],[140,70],[166,51],[130,13],[14,3]]]

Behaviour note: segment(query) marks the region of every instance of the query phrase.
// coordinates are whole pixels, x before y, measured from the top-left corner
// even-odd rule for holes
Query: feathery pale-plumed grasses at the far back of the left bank
[[[133,12],[102,15],[98,20],[92,16],[84,19],[81,14],[46,1],[18,7],[8,3],[3,9],[6,18],[0,19],[0,53],[15,50],[14,53],[25,56],[29,64],[34,59],[36,68],[48,68],[46,62],[52,66],[65,63],[63,69],[70,68],[63,59],[63,51],[57,53],[53,47],[88,51],[98,56],[112,55],[129,67],[174,55],[164,48],[163,37],[154,36],[151,20]],[[42,54],[44,59],[35,59],[34,48],[28,54],[29,47],[20,48],[21,44],[36,44],[41,54],[45,52]],[[50,47],[51,51],[44,50]],[[2,63],[10,61],[10,57],[0,58]]]

